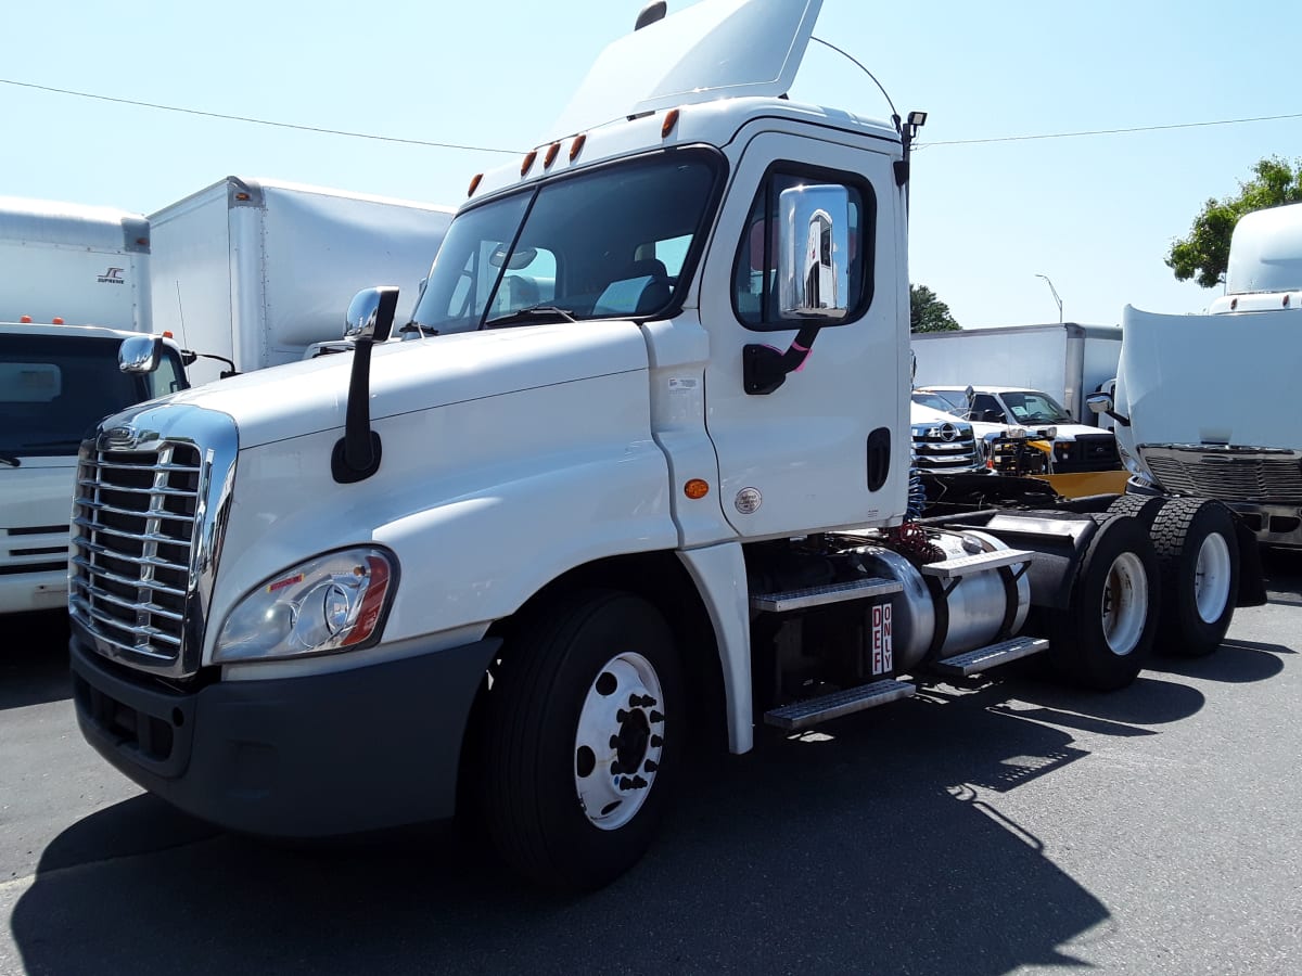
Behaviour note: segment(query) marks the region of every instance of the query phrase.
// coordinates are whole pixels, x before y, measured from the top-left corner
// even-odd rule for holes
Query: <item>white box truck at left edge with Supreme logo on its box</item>
[[[0,613],[68,601],[68,500],[89,428],[185,386],[178,350],[118,368],[150,331],[150,229],[109,207],[0,198]]]

